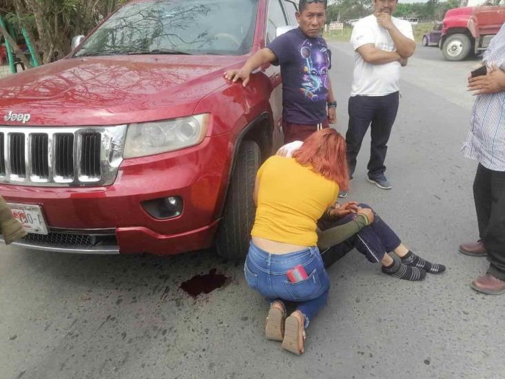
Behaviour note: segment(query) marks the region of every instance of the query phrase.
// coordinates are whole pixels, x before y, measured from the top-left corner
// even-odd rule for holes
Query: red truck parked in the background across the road
[[[505,0],[462,0],[444,17],[439,46],[448,61],[461,61],[471,52],[478,54],[505,22]]]

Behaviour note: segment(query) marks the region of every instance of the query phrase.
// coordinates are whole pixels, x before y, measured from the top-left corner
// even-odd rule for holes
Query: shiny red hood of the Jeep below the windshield
[[[62,59],[0,80],[0,117],[30,113],[30,125],[146,122],[190,115],[226,84],[244,57],[135,55]],[[3,124],[19,124],[6,122]]]

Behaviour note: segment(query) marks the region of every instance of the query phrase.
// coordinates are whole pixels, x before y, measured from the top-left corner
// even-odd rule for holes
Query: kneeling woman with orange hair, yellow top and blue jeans
[[[244,272],[248,285],[271,301],[266,338],[282,341],[296,354],[304,352],[305,328],[328,298],[317,220],[334,204],[339,188],[348,186],[345,151],[344,138],[325,128],[310,135],[293,157],[268,158],[256,177],[257,211]],[[362,224],[373,221],[370,209],[355,211]],[[282,300],[297,303],[285,321]]]

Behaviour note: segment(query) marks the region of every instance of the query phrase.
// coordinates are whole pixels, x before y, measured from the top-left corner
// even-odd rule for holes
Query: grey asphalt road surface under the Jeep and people
[[[353,58],[332,43],[333,88],[345,132]],[[418,47],[402,72],[390,139],[390,191],[365,180],[368,139],[350,200],[368,202],[413,251],[448,266],[404,282],[352,252],[329,270],[327,307],[306,353],[264,340],[268,305],[241,266],[212,252],[171,258],[40,253],[0,247],[0,378],[504,378],[505,297],[469,282],[486,260],[457,253],[477,238],[476,164],[459,153],[477,60],[449,63]],[[179,286],[217,269],[230,279],[191,298]]]

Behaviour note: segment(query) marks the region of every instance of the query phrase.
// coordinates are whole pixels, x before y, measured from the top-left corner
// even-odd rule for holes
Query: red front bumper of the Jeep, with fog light
[[[108,235],[106,242],[55,243],[43,238],[17,244],[30,249],[76,253],[169,255],[205,249],[219,224],[230,167],[230,135],[207,137],[198,146],[126,159],[111,186],[48,188],[0,185],[7,202],[38,204],[54,235]],[[151,217],[141,202],[179,196],[181,215]],[[70,235],[70,237],[69,237]],[[32,235],[30,235],[32,236]]]

